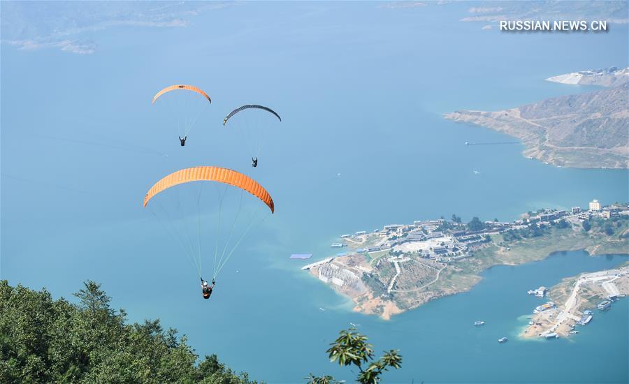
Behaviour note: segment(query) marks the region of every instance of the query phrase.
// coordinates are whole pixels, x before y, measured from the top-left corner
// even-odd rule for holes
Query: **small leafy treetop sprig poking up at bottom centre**
[[[398,369],[402,366],[402,356],[393,349],[374,361],[373,346],[367,342],[367,337],[357,332],[354,327],[342,330],[340,336],[330,345],[331,347],[327,350],[330,361],[338,362],[341,367],[348,365],[358,367],[360,373],[356,377],[356,382],[361,384],[376,384],[389,367]],[[366,364],[366,367],[363,364]],[[311,384],[340,383],[332,376],[310,374],[305,379]]]

